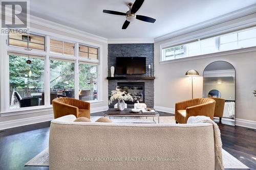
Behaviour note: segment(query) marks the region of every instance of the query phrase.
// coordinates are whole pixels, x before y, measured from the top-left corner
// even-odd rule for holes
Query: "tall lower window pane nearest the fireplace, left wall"
[[[97,65],[79,62],[79,100],[97,100]]]

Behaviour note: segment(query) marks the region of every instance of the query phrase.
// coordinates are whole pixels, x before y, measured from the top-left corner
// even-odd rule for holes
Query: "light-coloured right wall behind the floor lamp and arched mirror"
[[[256,52],[244,52],[238,54],[217,55],[214,57],[187,60],[173,63],[160,64],[160,44],[178,41],[194,34],[202,34],[211,29],[226,27],[236,22],[255,18],[255,15],[246,16],[237,20],[222,23],[221,25],[207,28],[193,33],[185,34],[172,39],[164,40],[154,44],[155,53],[155,106],[170,110],[175,108],[175,103],[191,99],[191,80],[185,77],[189,69],[199,71],[201,77],[194,80],[194,98],[201,98],[203,94],[203,70],[214,61],[227,61],[236,69],[236,117],[256,121],[256,98],[252,91],[256,89]],[[253,122],[255,126],[255,122]]]

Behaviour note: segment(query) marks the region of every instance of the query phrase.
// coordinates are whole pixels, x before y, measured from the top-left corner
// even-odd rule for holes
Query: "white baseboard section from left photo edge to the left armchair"
[[[16,120],[9,120],[5,122],[1,122],[0,130],[10,129],[25,125],[37,124],[41,122],[48,122],[53,119],[53,114],[47,114],[42,116],[28,117],[28,118],[20,118]]]

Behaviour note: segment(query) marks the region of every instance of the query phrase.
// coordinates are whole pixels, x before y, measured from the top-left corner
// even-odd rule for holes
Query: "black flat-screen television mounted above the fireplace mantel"
[[[146,74],[146,57],[117,57],[116,74],[142,75]]]

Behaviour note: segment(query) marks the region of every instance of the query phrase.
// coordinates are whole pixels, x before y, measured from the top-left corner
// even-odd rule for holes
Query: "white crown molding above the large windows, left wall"
[[[49,21],[49,20],[46,20],[46,19],[43,19],[43,18],[40,18],[40,17],[36,17],[36,16],[33,16],[33,15],[30,15],[30,23],[34,23],[36,25],[47,27],[47,28],[54,29],[54,30],[57,30],[57,31],[70,33],[70,34],[77,35],[77,36],[80,36],[80,37],[88,38],[88,39],[91,39],[91,40],[95,40],[95,41],[99,41],[99,42],[103,42],[103,43],[108,43],[108,39],[106,39],[104,37],[100,37],[100,36],[97,36],[97,35],[94,35],[94,34],[91,34],[91,33],[88,33],[88,32],[84,32],[84,31],[81,31],[81,30],[78,30],[78,29],[74,29],[72,27],[61,25],[60,23]]]

